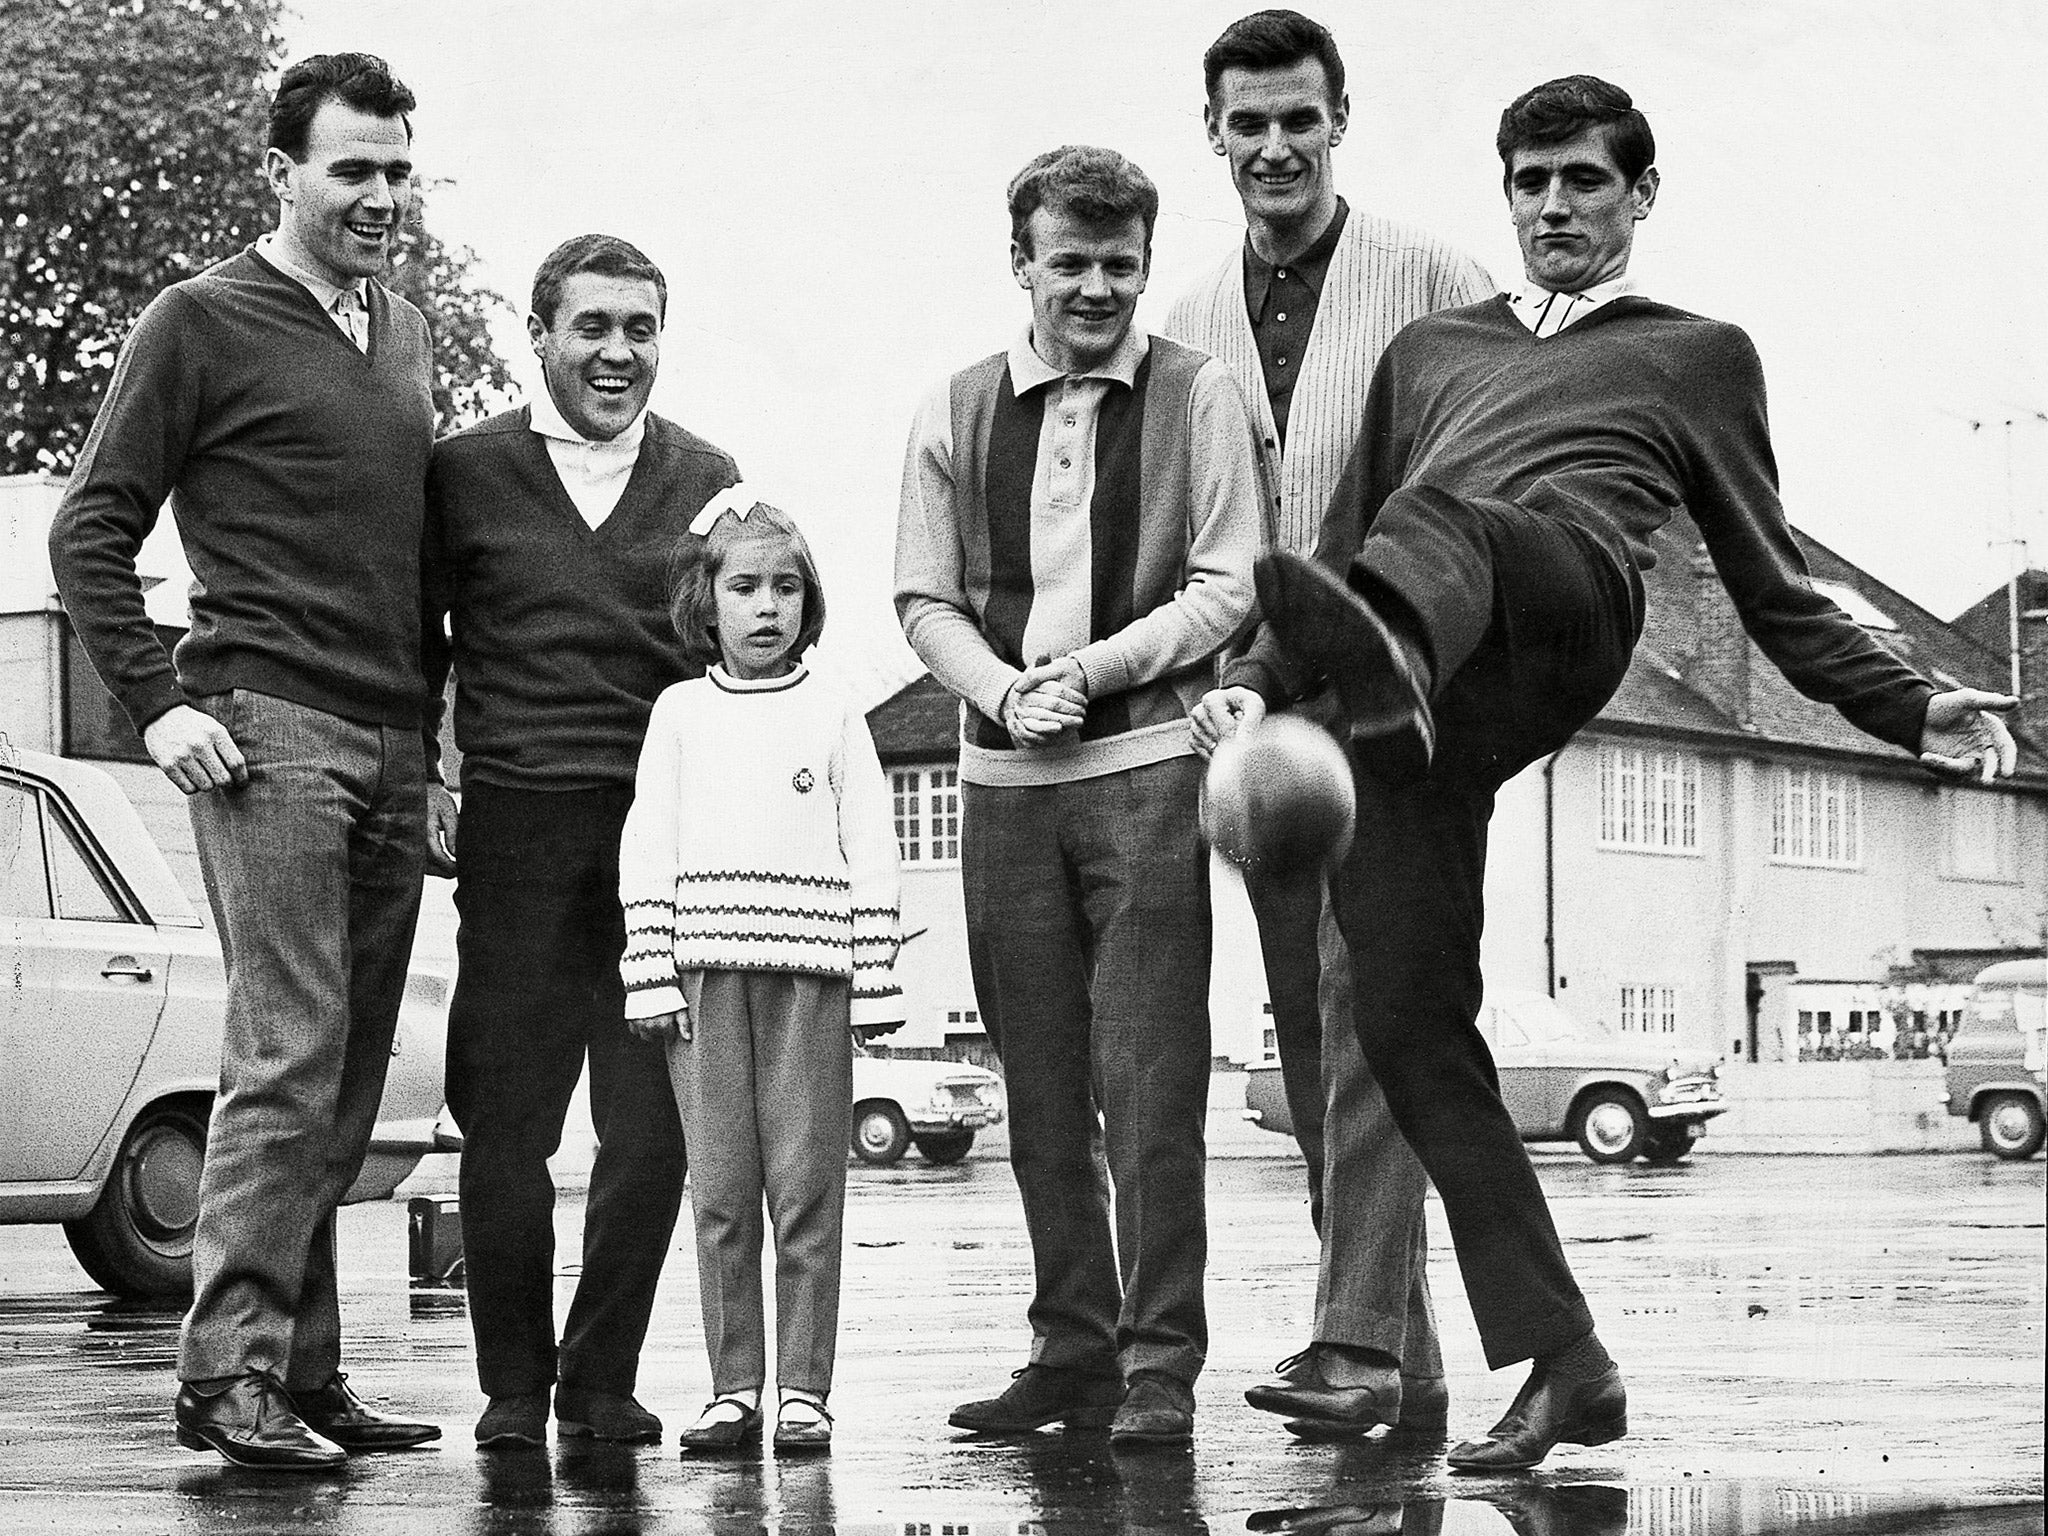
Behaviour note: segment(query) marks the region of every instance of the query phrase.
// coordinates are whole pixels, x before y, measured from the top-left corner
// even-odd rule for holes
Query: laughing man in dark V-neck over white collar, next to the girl
[[[682,1204],[668,1061],[625,1024],[618,834],[647,715],[698,672],[668,614],[690,518],[733,461],[647,412],[668,283],[610,236],[557,246],[526,334],[545,391],[434,446],[428,475],[430,721],[455,666],[455,799],[428,786],[430,854],[455,862],[461,969],[449,1012],[449,1108],[463,1128],[463,1253],[477,1442],[659,1440],[633,1386]],[[584,1270],[555,1341],[555,1186],[590,1063],[598,1157]]]

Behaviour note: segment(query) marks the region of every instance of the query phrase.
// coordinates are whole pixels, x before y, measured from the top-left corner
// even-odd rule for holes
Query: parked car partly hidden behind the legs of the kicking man
[[[1522,1141],[1577,1141],[1595,1163],[1675,1163],[1729,1110],[1714,1057],[1583,1024],[1540,991],[1489,991],[1479,1030]],[[1245,1118],[1294,1130],[1278,1057],[1251,1069]]]

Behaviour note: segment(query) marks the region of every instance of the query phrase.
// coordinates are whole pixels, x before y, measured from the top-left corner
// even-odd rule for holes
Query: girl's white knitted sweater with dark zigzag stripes
[[[680,971],[852,979],[852,1022],[899,1024],[897,844],[860,711],[797,668],[713,668],[655,700],[618,840],[627,1018],[682,1006]]]

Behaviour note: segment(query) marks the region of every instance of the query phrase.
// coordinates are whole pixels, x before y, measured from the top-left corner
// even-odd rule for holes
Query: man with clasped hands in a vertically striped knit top
[[[926,401],[897,522],[903,633],[963,700],[969,961],[1036,1266],[1030,1364],[952,1423],[1110,1423],[1122,1446],[1188,1442],[1208,1348],[1208,850],[1184,717],[1249,612],[1260,526],[1229,371],[1133,326],[1157,211],[1108,150],[1018,174],[1030,328]]]

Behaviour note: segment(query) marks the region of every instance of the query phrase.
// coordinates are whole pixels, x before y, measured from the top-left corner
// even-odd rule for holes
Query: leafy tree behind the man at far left
[[[281,0],[0,0],[0,473],[63,473],[164,287],[276,223],[258,147]],[[508,383],[471,254],[408,229],[393,287],[436,336],[440,426]]]

